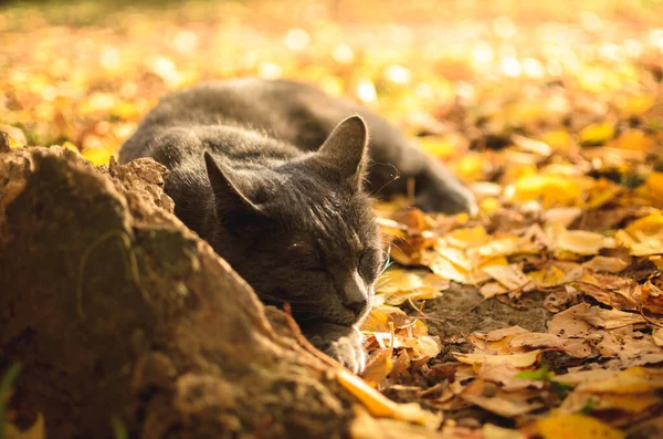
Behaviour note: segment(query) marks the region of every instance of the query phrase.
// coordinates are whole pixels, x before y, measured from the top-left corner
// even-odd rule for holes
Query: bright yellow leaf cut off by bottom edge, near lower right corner
[[[598,419],[581,415],[551,416],[536,421],[544,439],[623,439],[624,435]]]

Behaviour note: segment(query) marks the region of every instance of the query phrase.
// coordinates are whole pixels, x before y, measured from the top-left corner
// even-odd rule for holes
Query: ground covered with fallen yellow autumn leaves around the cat
[[[6,7],[0,130],[105,165],[162,94],[206,79],[357,100],[480,203],[376,206],[392,265],[364,378],[454,437],[660,438],[663,15],[598,3]]]

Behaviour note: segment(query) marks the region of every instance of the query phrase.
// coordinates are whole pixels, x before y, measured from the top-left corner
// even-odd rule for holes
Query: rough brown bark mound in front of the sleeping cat
[[[41,411],[49,438],[113,437],[113,418],[143,438],[346,437],[350,397],[172,216],[165,174],[0,150],[0,372],[23,365],[19,424]]]

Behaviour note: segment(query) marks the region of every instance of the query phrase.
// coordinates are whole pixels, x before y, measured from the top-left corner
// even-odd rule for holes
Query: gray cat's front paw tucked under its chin
[[[317,323],[302,327],[302,331],[315,347],[355,374],[361,373],[366,367],[364,336],[354,326]]]

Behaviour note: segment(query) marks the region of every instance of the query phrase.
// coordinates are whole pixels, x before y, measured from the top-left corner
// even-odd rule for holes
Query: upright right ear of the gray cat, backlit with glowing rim
[[[317,154],[338,169],[344,179],[359,187],[368,155],[368,127],[364,119],[355,115],[336,125]]]

